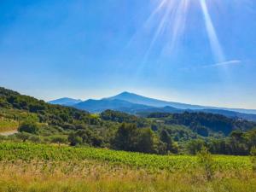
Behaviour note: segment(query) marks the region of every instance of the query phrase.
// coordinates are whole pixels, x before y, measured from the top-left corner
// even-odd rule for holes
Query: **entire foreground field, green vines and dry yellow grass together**
[[[256,191],[249,157],[213,160],[207,181],[195,156],[0,143],[0,191]]]

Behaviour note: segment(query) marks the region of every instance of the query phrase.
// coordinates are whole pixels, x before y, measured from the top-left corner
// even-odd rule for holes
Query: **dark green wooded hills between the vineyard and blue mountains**
[[[107,110],[92,114],[51,105],[0,88],[0,117],[19,122],[5,140],[58,143],[148,154],[249,154],[256,123],[213,113],[151,113],[147,117]]]

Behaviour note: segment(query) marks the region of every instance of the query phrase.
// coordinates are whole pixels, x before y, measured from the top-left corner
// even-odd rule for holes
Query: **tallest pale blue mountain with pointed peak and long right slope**
[[[114,100],[119,99],[126,102],[133,102],[137,104],[143,104],[147,106],[152,106],[155,108],[164,108],[166,106],[170,106],[172,108],[179,108],[179,109],[192,109],[192,110],[198,110],[198,109],[218,109],[218,110],[226,110],[226,111],[233,111],[238,113],[252,113],[256,114],[256,109],[243,109],[243,108],[217,108],[217,107],[208,107],[208,106],[200,106],[200,105],[191,105],[181,102],[166,102],[158,99],[149,98],[146,96],[139,96],[134,93],[130,92],[122,92],[117,96],[112,96],[106,98],[108,100]]]

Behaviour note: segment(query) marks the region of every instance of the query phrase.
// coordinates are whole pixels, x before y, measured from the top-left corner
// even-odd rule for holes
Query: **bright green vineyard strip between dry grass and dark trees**
[[[218,171],[252,169],[250,158],[247,156],[215,155],[213,158]],[[196,157],[189,155],[139,154],[102,148],[58,147],[34,143],[1,143],[0,160],[99,160],[115,165],[166,171],[182,171],[198,166]]]

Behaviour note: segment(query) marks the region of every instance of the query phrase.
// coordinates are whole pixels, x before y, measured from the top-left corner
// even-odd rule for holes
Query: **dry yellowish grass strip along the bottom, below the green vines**
[[[1,192],[256,191],[256,179],[247,171],[216,172],[211,182],[200,171],[152,172],[93,160],[2,161],[0,171]]]

